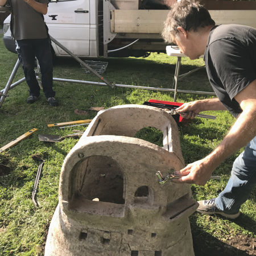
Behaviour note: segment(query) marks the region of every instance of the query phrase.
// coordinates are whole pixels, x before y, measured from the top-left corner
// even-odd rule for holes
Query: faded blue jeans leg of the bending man
[[[241,205],[249,198],[255,183],[256,137],[234,161],[228,184],[215,200],[217,208],[229,214],[238,213]]]

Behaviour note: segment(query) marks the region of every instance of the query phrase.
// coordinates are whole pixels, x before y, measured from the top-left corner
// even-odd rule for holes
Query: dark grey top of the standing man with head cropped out
[[[48,0],[36,1],[47,4],[49,2]],[[7,4],[11,5],[11,32],[15,40],[47,38],[46,23],[42,14],[23,0],[8,0]]]

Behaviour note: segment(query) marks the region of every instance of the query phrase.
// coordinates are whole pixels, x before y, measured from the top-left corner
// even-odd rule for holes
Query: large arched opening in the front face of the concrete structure
[[[108,156],[90,156],[72,170],[69,209],[108,215],[102,210],[108,203],[108,209],[119,216],[125,204],[123,183],[123,171],[115,160]]]

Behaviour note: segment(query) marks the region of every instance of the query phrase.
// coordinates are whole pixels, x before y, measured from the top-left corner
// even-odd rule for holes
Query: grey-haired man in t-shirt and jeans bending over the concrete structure
[[[204,185],[222,161],[245,146],[233,163],[224,191],[216,199],[199,201],[197,209],[236,218],[256,183],[256,30],[237,24],[216,26],[199,2],[183,0],[172,7],[162,35],[192,60],[204,55],[209,81],[218,97],[188,102],[177,109],[179,113],[194,118],[205,110],[229,110],[237,118],[209,155],[188,164],[178,172],[184,176],[173,181]]]

